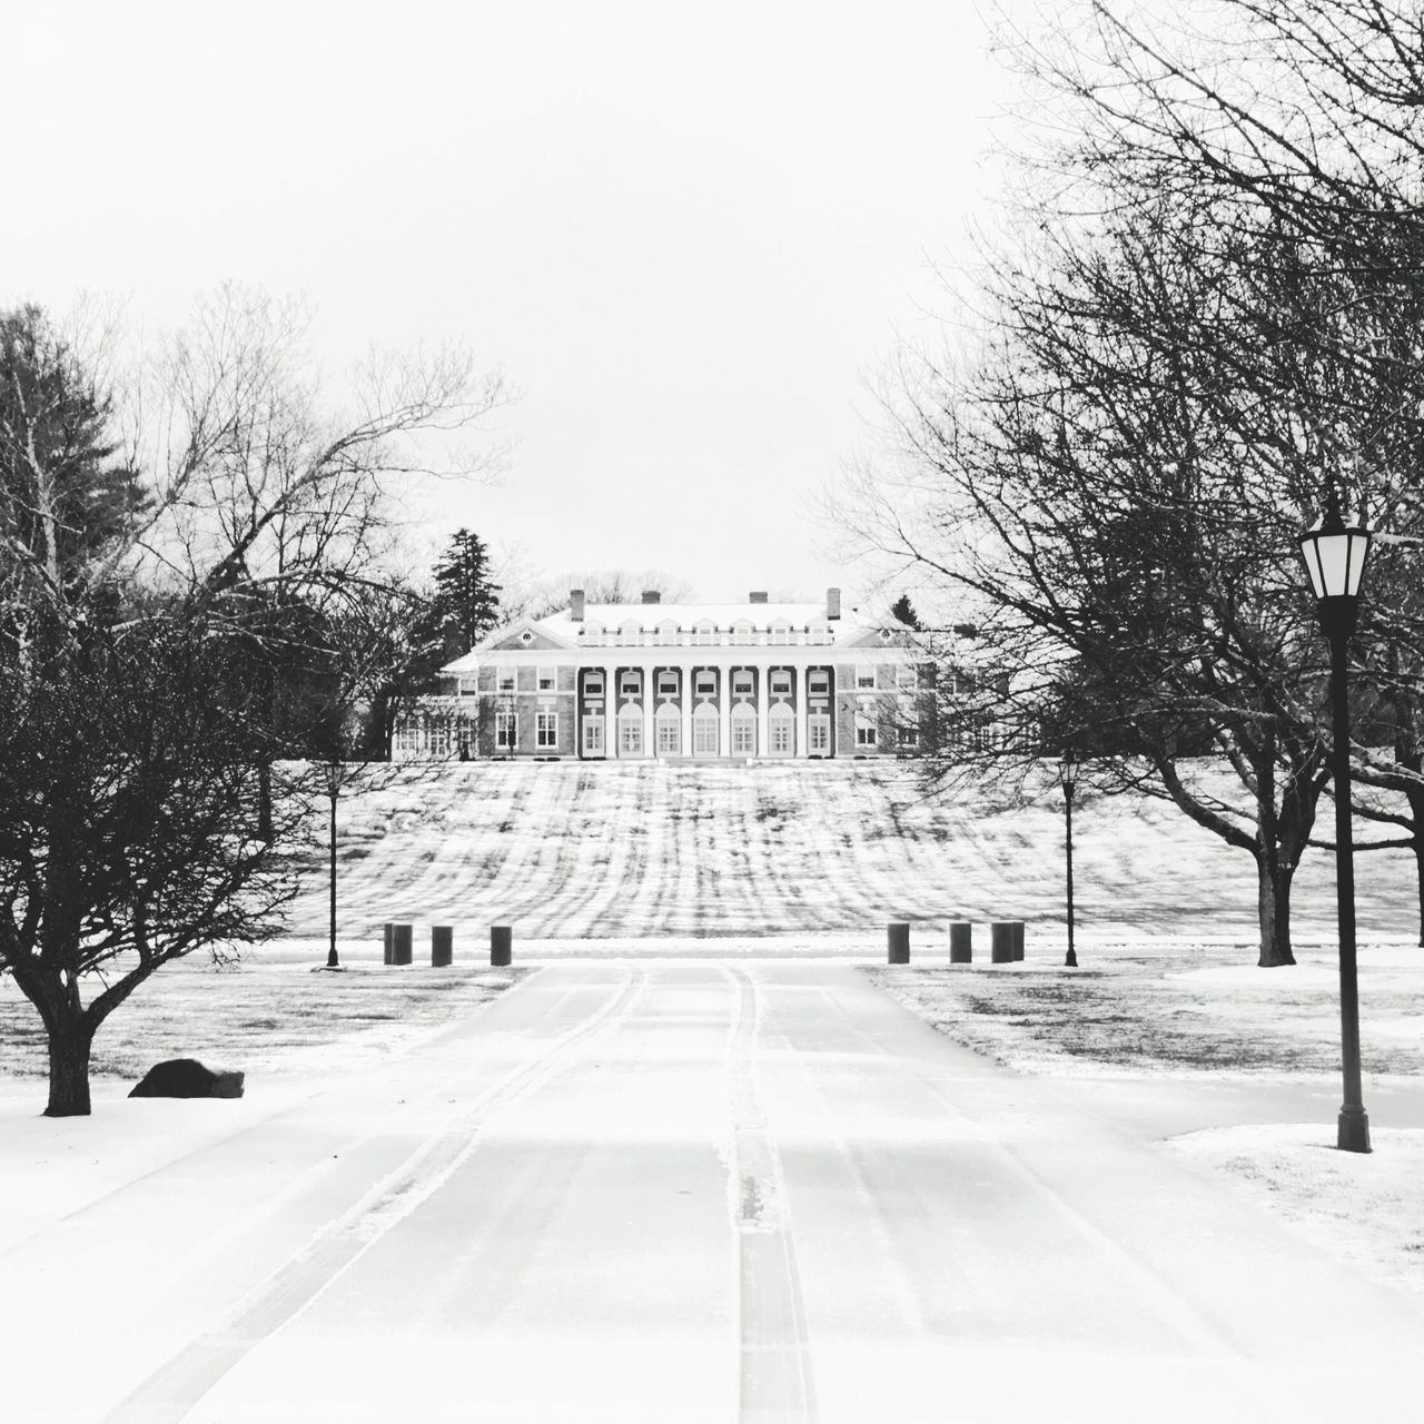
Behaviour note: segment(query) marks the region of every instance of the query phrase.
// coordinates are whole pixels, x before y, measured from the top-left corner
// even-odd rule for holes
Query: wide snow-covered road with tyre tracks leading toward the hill
[[[551,963],[238,1108],[0,1253],[3,1417],[1417,1417],[1417,1299],[846,964]]]

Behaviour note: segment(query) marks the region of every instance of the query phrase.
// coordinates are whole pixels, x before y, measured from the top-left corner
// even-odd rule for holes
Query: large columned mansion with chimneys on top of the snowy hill
[[[900,624],[824,602],[587,604],[497,629],[396,729],[394,755],[627,760],[913,755],[931,665]]]

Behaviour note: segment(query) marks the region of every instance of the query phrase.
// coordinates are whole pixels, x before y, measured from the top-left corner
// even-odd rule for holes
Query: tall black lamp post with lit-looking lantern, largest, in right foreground
[[[1360,614],[1360,575],[1370,553],[1370,531],[1347,525],[1340,514],[1340,491],[1333,486],[1319,528],[1300,535],[1320,628],[1330,642],[1330,711],[1334,748],[1331,778],[1336,797],[1336,900],[1340,918],[1340,1045],[1344,1062],[1344,1105],[1336,1146],[1343,1152],[1370,1151],[1370,1119],[1360,1092],[1360,997],[1354,963],[1354,842],[1350,829],[1350,703],[1346,691],[1346,649]]]

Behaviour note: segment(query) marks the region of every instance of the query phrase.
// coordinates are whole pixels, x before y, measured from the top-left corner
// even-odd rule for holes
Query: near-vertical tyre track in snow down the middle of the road
[[[756,1096],[762,993],[745,970],[719,965],[736,988],[728,1037],[732,1096],[731,1215],[740,1320],[740,1418],[816,1420],[800,1272],[786,1208],[786,1179]]]

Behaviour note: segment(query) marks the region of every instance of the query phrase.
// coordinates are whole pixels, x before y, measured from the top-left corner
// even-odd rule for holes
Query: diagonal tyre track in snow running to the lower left
[[[628,978],[612,1000],[506,1074],[471,1111],[426,1138],[399,1168],[258,1286],[218,1329],[155,1370],[105,1415],[104,1424],[178,1424],[251,1350],[300,1314],[386,1232],[440,1190],[478,1148],[488,1122],[567,1071],[572,1051],[588,1038],[618,1031],[646,981],[646,970],[629,964]]]

